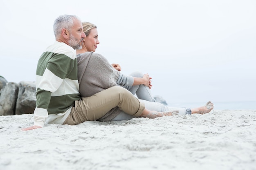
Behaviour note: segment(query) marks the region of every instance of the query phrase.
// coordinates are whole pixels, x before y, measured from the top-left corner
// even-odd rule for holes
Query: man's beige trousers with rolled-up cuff
[[[81,97],[63,124],[76,125],[85,121],[97,120],[116,106],[129,115],[139,117],[145,109],[144,103],[120,86],[113,86],[90,97]]]

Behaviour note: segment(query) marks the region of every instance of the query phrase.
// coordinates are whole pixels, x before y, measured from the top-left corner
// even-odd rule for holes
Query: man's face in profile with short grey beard
[[[68,41],[69,45],[73,49],[81,49],[83,45],[83,39],[85,38],[85,33],[83,32],[83,26],[81,21],[74,20],[74,26],[70,30],[70,40]]]

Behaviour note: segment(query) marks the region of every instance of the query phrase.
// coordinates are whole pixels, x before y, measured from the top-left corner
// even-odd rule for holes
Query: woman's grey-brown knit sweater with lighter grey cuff
[[[100,54],[85,52],[77,55],[79,93],[81,97],[92,96],[112,86],[131,86],[132,76],[123,75]],[[110,110],[99,121],[110,121],[121,110],[118,107]]]

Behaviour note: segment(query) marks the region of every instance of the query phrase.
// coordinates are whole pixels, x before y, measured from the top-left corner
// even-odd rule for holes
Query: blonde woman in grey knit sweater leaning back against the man
[[[123,86],[124,88],[130,90],[133,95],[136,93],[139,101],[144,103],[146,108],[149,110],[185,115],[191,113],[209,113],[213,109],[213,104],[211,102],[207,102],[205,106],[193,109],[171,108],[169,106],[154,102],[154,99],[149,91],[151,87],[151,77],[149,77],[148,74],[143,75],[143,77],[131,77],[121,74],[121,68],[118,64],[111,65],[105,57],[94,53],[97,48],[97,44],[99,44],[97,27],[88,22],[82,22],[82,24],[86,38],[83,41],[82,49],[76,50],[79,92],[82,97],[94,95],[112,86]],[[135,86],[137,87],[135,88]],[[142,89],[143,91],[141,96],[138,96],[137,94],[139,89]],[[114,108],[99,120],[114,121],[132,119],[133,117],[134,116],[128,115],[118,108]]]

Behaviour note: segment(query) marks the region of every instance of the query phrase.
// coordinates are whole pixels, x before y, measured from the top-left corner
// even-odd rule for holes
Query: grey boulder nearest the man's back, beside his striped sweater
[[[36,108],[36,83],[25,82],[19,83],[19,93],[16,102],[16,115],[34,113]]]

